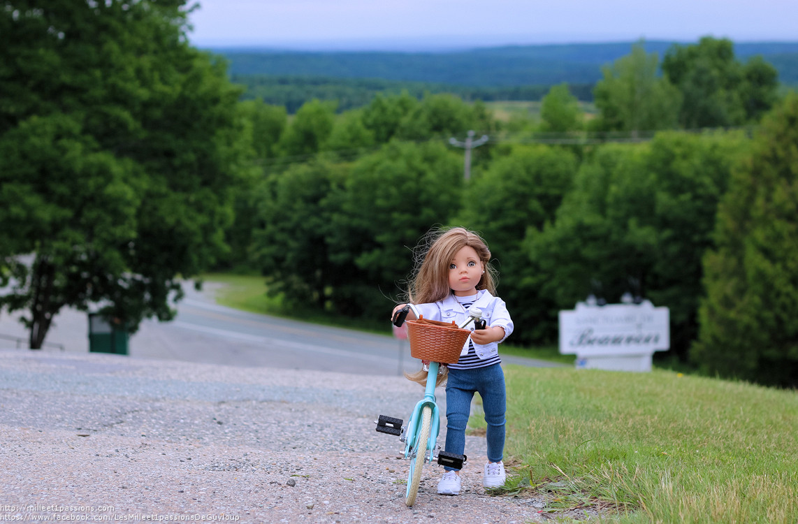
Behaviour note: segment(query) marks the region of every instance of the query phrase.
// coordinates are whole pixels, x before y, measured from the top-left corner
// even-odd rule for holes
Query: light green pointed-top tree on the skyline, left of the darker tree
[[[631,132],[674,128],[680,104],[679,93],[670,82],[658,77],[657,53],[646,53],[641,44],[602,67],[603,77],[594,89],[599,116],[598,131]]]

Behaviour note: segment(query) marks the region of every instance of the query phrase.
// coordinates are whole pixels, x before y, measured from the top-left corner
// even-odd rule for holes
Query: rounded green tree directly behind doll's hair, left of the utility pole
[[[386,297],[413,269],[409,247],[460,208],[460,155],[444,144],[393,141],[355,162],[340,191],[326,242],[339,312],[381,318]]]

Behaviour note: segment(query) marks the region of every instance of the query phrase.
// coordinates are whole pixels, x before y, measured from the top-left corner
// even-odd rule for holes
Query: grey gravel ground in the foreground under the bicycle
[[[427,466],[405,506],[409,462],[373,420],[406,418],[422,393],[401,377],[0,350],[0,519],[550,518],[541,498],[484,493],[478,436],[460,496],[438,495]]]

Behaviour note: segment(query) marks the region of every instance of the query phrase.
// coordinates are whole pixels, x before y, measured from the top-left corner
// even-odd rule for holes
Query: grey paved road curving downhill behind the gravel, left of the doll
[[[219,285],[209,282],[202,292],[186,286],[175,321],[144,321],[131,337],[130,356],[372,375],[400,375],[418,368],[406,341],[226,308],[215,304],[218,289]],[[0,316],[0,334],[27,337],[22,325],[8,314]],[[63,345],[69,353],[87,353],[86,314],[61,312],[47,342]],[[14,345],[14,341],[0,338],[0,348]],[[519,357],[505,356],[503,360],[508,364],[557,365]]]

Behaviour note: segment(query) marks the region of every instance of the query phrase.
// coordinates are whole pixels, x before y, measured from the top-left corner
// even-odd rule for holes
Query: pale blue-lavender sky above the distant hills
[[[798,0],[188,0],[200,48],[445,50],[646,40],[798,41]]]

